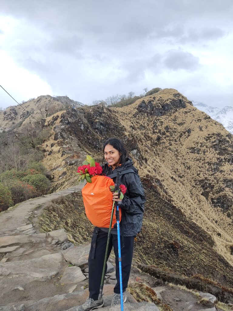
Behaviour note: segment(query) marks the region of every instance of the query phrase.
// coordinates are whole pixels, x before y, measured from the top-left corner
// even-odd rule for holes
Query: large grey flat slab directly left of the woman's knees
[[[88,256],[91,248],[91,244],[82,244],[73,248],[67,248],[62,251],[62,254],[66,261],[70,262],[74,266],[83,267],[88,264]]]

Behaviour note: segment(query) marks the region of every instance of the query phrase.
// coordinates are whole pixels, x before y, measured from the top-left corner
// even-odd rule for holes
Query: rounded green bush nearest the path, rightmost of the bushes
[[[35,175],[28,174],[22,180],[25,183],[28,183],[29,185],[33,186],[36,189],[37,193],[40,195],[47,193],[50,187],[50,181],[43,174],[35,174]]]

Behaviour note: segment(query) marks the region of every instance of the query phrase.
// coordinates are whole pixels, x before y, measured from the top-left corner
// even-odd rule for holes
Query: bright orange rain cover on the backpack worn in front
[[[105,176],[96,175],[91,179],[91,183],[86,183],[82,189],[85,212],[90,222],[100,228],[109,228],[112,213],[112,192],[110,186],[114,186],[114,181]],[[120,221],[121,221],[121,209]],[[112,219],[113,225],[117,222],[115,212]]]

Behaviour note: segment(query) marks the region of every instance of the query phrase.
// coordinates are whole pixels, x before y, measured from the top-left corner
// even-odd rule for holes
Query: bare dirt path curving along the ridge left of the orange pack
[[[19,204],[16,204],[11,209],[0,213],[0,236],[8,235],[16,230],[17,227],[26,223],[28,213],[34,211],[39,205],[44,205],[49,201],[61,197],[63,195],[80,191],[83,185],[74,186],[51,194],[46,194],[41,197],[36,197]]]

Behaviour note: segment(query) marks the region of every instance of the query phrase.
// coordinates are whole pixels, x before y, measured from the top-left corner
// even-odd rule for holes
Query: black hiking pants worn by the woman
[[[124,247],[122,248],[121,238],[121,272],[122,272],[122,289],[123,292],[128,286],[130,277],[131,262],[133,257],[134,236],[124,236]],[[107,233],[96,229],[92,234],[91,249],[89,253],[89,297],[97,300],[99,295],[99,287],[103,271],[103,262],[107,245]],[[119,276],[119,262],[118,262],[118,244],[117,234],[111,234],[107,259],[111,253],[112,246],[116,257],[116,278],[117,284],[114,287],[114,293],[120,294],[120,276]],[[107,264],[105,274],[107,271]]]

